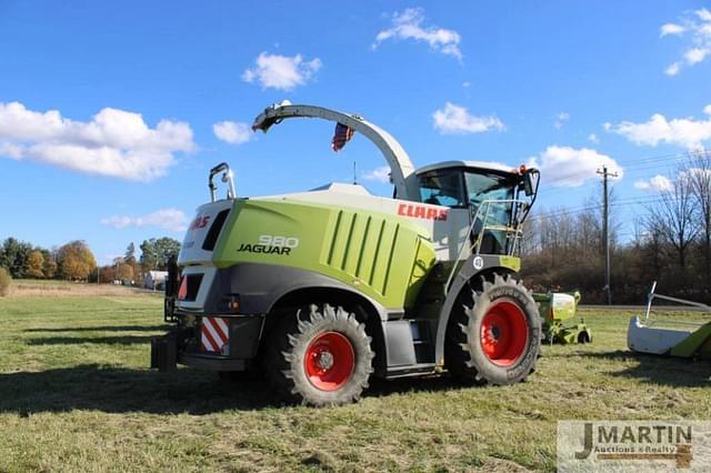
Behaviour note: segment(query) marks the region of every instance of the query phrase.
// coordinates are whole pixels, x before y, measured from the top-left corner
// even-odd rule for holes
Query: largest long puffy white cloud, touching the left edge
[[[173,153],[193,149],[183,122],[161,120],[151,129],[140,113],[111,108],[81,122],[0,102],[0,155],[12,159],[146,182],[166,174]]]

